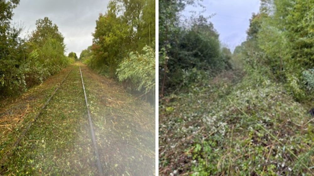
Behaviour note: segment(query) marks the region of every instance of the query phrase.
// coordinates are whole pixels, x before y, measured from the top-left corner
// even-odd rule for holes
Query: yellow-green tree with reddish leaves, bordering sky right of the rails
[[[110,77],[115,77],[116,68],[126,54],[121,51],[124,51],[129,43],[127,36],[130,34],[130,27],[123,23],[121,16],[117,17],[118,8],[117,2],[111,1],[107,13],[99,16],[91,48],[95,57],[90,66],[109,74]]]

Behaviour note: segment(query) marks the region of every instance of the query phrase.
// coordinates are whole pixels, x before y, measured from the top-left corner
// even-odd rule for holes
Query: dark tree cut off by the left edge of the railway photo
[[[11,27],[13,9],[19,0],[0,0],[0,94],[9,95],[25,89],[23,72],[20,69],[24,61],[23,39],[19,37],[21,29]]]

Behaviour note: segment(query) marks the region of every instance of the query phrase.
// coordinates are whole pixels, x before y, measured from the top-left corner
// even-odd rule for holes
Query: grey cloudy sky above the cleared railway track
[[[92,44],[99,13],[105,13],[109,0],[20,0],[13,10],[13,22],[24,26],[23,34],[35,29],[39,18],[48,17],[57,24],[64,36],[66,54],[73,51],[78,57]]]

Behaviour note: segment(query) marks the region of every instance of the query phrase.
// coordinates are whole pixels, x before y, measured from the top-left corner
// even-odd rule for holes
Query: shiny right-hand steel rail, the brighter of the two
[[[93,140],[93,144],[94,144],[94,150],[95,150],[95,155],[96,155],[96,163],[97,163],[97,167],[98,167],[98,172],[99,172],[100,176],[103,176],[103,171],[102,171],[101,164],[100,164],[100,157],[99,157],[98,149],[97,149],[97,143],[96,143],[96,139],[95,139],[94,127],[93,127],[93,123],[92,123],[92,118],[90,117],[89,106],[88,106],[88,101],[87,101],[87,97],[86,97],[85,86],[84,86],[84,81],[83,81],[83,76],[82,76],[82,71],[81,71],[80,66],[79,66],[79,72],[80,72],[81,78],[82,78],[85,103],[86,103],[86,107],[87,107],[87,115],[88,115],[88,120],[89,120],[90,132],[92,133],[92,140]]]

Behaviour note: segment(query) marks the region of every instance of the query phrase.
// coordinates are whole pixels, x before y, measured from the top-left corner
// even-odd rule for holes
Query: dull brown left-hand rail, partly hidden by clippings
[[[19,138],[14,142],[13,147],[15,148],[17,145],[19,145],[19,142],[21,142],[21,140],[23,139],[23,137],[25,136],[26,132],[30,129],[30,127],[34,124],[34,122],[36,122],[36,120],[38,119],[38,117],[41,115],[41,113],[43,112],[43,110],[46,108],[46,106],[48,105],[49,101],[51,100],[51,98],[55,95],[55,93],[57,92],[57,90],[61,87],[61,85],[63,84],[63,82],[68,78],[68,76],[70,75],[71,71],[73,70],[73,68],[69,71],[68,75],[62,80],[62,82],[60,83],[60,85],[52,92],[51,96],[48,98],[48,100],[45,102],[45,104],[41,107],[40,111],[37,113],[37,115],[34,117],[34,119],[30,120],[30,123],[28,124],[28,126],[23,130],[23,132],[21,133],[21,135],[19,136]],[[4,153],[3,155],[5,155],[5,157],[7,157],[12,150],[9,150],[9,152]],[[4,158],[3,157],[0,161],[0,163],[3,162]]]

